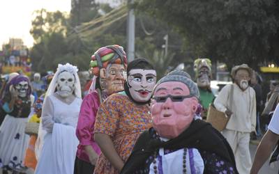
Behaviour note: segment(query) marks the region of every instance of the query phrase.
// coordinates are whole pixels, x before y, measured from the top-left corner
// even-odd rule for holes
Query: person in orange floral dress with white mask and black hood
[[[116,72],[115,72],[116,73]],[[102,153],[94,173],[119,173],[138,136],[151,127],[149,100],[156,70],[144,58],[128,64],[124,91],[107,97],[98,109],[94,138]]]

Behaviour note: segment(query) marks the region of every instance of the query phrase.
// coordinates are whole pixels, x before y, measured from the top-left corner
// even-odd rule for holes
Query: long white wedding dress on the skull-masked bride
[[[75,128],[82,99],[66,104],[54,95],[45,98],[42,125],[47,131],[36,167],[36,174],[73,174],[79,143]]]

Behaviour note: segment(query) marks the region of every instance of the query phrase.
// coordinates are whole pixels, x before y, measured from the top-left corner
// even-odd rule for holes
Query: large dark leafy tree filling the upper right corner
[[[254,68],[279,63],[276,0],[142,0],[135,7],[178,29],[196,56]]]

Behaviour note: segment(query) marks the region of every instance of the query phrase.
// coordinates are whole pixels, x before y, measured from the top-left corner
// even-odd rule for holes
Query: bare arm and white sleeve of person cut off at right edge
[[[252,164],[252,169],[250,174],[258,173],[259,169],[262,168],[264,162],[269,158],[273,148],[279,140],[279,104],[276,106],[276,109],[269,123],[268,130],[262,141],[257,147],[257,152],[255,155],[255,160]]]

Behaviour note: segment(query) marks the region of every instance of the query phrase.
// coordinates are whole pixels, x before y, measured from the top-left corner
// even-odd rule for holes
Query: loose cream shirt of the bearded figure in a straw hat
[[[231,86],[233,90],[232,106],[229,106],[229,95]],[[256,127],[256,95],[255,90],[248,87],[241,90],[236,84],[228,84],[216,97],[214,105],[218,111],[225,112],[227,109],[232,111],[232,116],[227,122],[226,129],[239,132],[253,132]]]

